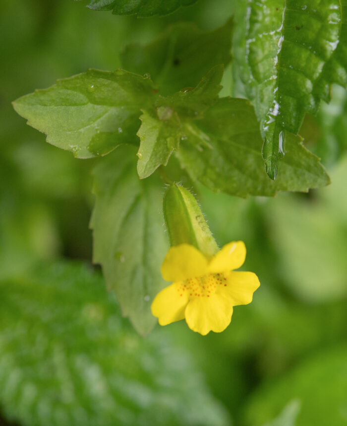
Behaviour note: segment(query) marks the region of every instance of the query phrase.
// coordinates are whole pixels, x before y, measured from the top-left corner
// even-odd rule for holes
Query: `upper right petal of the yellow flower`
[[[246,258],[246,246],[243,241],[231,241],[212,258],[208,272],[218,274],[232,271],[243,265]]]

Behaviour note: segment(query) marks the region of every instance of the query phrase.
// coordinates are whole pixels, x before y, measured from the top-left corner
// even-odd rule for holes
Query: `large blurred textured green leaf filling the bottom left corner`
[[[12,422],[230,425],[188,353],[161,329],[138,336],[101,274],[41,264],[0,293],[0,404]]]

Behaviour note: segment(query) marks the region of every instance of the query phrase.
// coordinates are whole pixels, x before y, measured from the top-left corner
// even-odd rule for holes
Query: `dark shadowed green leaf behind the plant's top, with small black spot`
[[[150,73],[163,95],[195,87],[215,65],[230,62],[232,28],[231,20],[211,32],[200,31],[192,23],[176,23],[146,46],[127,46],[121,54],[123,67]]]

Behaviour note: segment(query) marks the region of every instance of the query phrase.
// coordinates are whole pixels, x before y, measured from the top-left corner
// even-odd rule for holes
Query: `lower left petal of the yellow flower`
[[[155,296],[151,306],[152,314],[158,318],[160,325],[168,325],[184,318],[187,303],[187,293],[182,293],[180,286],[174,283]]]

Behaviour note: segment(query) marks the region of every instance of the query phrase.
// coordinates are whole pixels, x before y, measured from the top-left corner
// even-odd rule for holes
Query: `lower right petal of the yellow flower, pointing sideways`
[[[232,305],[247,305],[252,301],[253,292],[259,287],[258,277],[253,272],[231,272],[227,277],[227,286],[217,288],[219,294],[231,298]]]

